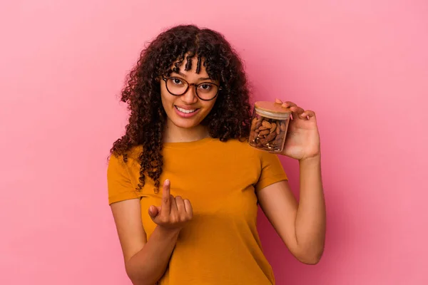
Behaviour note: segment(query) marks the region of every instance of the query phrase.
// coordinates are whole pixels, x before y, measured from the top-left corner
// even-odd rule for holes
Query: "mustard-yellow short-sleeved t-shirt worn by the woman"
[[[141,147],[128,155],[111,156],[108,165],[108,202],[141,198],[143,227],[150,239],[156,224],[148,207],[161,205],[162,187],[153,181],[138,192]],[[256,192],[287,180],[276,155],[250,147],[247,142],[206,138],[195,142],[168,142],[163,147],[163,174],[170,192],[189,199],[193,219],[182,229],[160,284],[228,285],[275,284],[265,258],[256,220]]]

